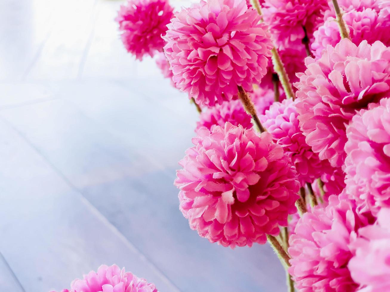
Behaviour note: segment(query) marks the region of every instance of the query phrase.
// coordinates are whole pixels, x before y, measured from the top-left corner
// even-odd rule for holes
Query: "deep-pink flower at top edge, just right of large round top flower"
[[[302,47],[303,27],[311,39],[327,8],[327,0],[265,0],[262,12],[278,49],[284,50]]]

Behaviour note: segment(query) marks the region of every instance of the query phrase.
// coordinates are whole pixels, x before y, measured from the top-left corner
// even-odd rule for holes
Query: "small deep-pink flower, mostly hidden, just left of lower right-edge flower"
[[[321,175],[321,181],[324,183],[324,201],[327,202],[331,195],[339,195],[345,188],[345,173],[341,167],[329,167]],[[315,193],[320,194],[318,182],[312,184]]]

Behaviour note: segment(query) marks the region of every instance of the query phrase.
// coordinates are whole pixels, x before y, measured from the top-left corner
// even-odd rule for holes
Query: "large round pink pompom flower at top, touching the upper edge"
[[[208,0],[176,14],[164,47],[177,87],[198,104],[230,100],[237,86],[252,91],[266,74],[271,40],[244,0]]]

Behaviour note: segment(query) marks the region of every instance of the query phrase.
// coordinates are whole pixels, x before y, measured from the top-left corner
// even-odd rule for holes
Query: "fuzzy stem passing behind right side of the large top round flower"
[[[262,12],[261,12],[261,4],[259,0],[251,0],[251,3],[253,7],[256,8],[257,13],[262,17]],[[263,21],[261,18],[260,21]],[[289,76],[286,73],[286,69],[284,67],[284,64],[282,62],[282,59],[280,59],[280,55],[278,53],[278,50],[275,48],[275,46],[271,49],[272,53],[272,63],[273,63],[273,69],[279,76],[280,83],[282,83],[282,87],[284,92],[286,93],[286,97],[288,99],[295,99],[295,93],[293,91],[293,86],[290,83]]]

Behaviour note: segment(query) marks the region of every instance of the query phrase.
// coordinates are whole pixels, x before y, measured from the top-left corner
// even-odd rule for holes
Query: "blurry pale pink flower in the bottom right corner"
[[[378,213],[375,225],[359,229],[359,238],[351,244],[355,256],[348,269],[361,292],[390,291],[390,209]]]

